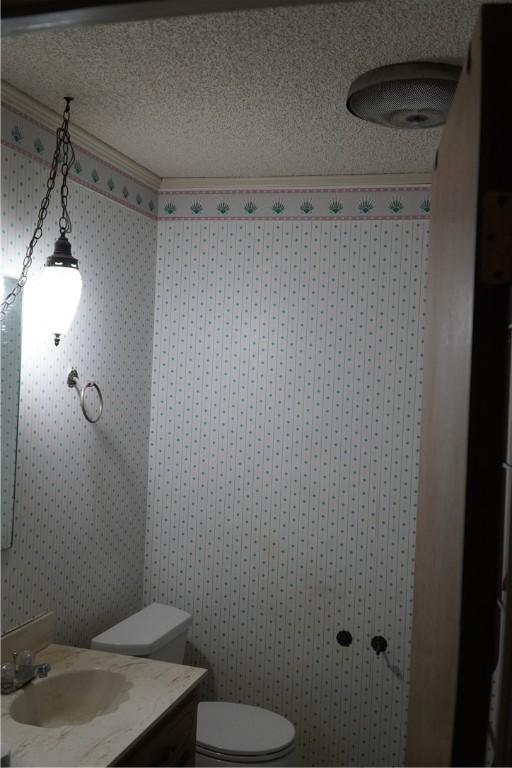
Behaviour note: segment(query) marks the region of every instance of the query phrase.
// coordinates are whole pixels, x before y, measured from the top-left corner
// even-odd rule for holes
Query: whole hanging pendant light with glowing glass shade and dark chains
[[[67,207],[67,177],[69,169],[75,160],[75,153],[69,135],[70,103],[73,101],[73,98],[72,96],[65,96],[64,98],[66,106],[62,117],[62,125],[57,129],[55,152],[53,154],[50,175],[46,183],[46,194],[39,209],[36,228],[27,247],[20,278],[12,291],[3,300],[0,310],[0,314],[5,315],[27,282],[28,270],[32,264],[32,253],[37,241],[43,234],[43,222],[48,212],[60,164],[62,173],[60,188],[62,212],[59,219],[60,236],[55,243],[53,254],[46,260],[46,266],[43,269],[39,283],[42,322],[53,334],[55,346],[58,346],[61,337],[68,332],[80,303],[80,294],[82,292],[82,278],[78,271],[78,260],[71,255],[71,243],[67,238],[67,235],[71,232],[71,219]]]

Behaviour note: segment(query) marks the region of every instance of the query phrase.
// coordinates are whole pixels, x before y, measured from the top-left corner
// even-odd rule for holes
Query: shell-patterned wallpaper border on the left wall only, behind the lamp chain
[[[73,132],[71,131],[71,138]],[[2,144],[50,165],[55,150],[55,134],[9,104],[2,103]],[[158,190],[120,171],[113,165],[73,143],[75,162],[70,177],[99,194],[156,219]]]

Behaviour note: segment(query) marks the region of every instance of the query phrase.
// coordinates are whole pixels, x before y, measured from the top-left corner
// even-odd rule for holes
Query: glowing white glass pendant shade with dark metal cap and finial
[[[46,260],[40,290],[44,297],[43,321],[54,334],[57,346],[73,322],[82,293],[78,260],[71,255],[71,245],[65,235],[59,237],[53,255]]]

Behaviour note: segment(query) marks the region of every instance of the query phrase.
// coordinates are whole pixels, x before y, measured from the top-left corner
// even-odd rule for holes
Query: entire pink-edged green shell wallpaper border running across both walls
[[[2,104],[2,144],[49,165],[55,135]],[[75,144],[74,181],[152,219],[428,219],[430,185],[157,190]]]

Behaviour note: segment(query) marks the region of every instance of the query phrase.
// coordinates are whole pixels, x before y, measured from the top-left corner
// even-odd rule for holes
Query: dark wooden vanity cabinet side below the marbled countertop
[[[196,721],[199,697],[193,691],[169,713],[163,715],[135,744],[128,747],[112,766],[195,765]]]

